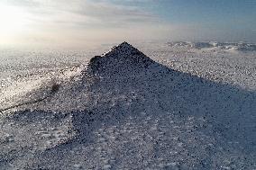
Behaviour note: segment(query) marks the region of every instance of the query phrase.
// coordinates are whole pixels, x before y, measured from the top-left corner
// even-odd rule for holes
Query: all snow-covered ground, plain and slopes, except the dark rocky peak
[[[253,44],[140,43],[150,67],[123,47],[88,72],[111,46],[1,49],[0,169],[256,168]]]

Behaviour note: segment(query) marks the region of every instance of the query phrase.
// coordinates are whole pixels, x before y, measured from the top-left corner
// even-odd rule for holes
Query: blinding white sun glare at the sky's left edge
[[[0,4],[0,36],[13,36],[24,30],[25,13],[22,9]]]

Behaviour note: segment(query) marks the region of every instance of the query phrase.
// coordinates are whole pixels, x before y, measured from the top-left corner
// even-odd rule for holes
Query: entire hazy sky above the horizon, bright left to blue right
[[[0,0],[0,44],[256,41],[255,0]]]

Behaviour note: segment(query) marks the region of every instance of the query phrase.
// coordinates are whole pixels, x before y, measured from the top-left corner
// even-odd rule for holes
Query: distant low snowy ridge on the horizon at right
[[[174,41],[167,43],[170,47],[186,47],[190,49],[235,49],[238,51],[256,51],[256,44],[245,42],[188,42],[188,41]]]

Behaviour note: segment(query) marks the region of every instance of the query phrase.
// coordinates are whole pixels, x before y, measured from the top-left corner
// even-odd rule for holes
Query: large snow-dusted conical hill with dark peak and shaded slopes
[[[51,92],[3,114],[2,169],[256,168],[254,92],[175,71],[126,42]]]

